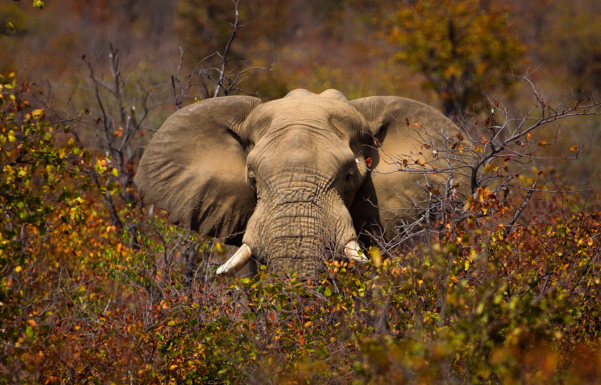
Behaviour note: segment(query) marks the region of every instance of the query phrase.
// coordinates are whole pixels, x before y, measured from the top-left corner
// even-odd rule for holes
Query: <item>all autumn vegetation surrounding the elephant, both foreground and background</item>
[[[601,7],[573,3],[0,5],[0,384],[601,383]],[[299,87],[444,110],[472,196],[424,185],[419,242],[367,266],[218,278],[229,246],[133,184],[144,146]]]

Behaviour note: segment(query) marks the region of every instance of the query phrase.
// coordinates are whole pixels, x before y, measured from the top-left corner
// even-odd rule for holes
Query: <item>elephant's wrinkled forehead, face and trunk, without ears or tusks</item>
[[[263,112],[271,116],[271,123],[247,158],[246,178],[256,189],[257,207],[243,242],[267,266],[309,272],[314,257],[329,248],[342,254],[344,245],[356,238],[347,207],[367,167],[359,154],[361,145],[337,136],[332,127],[354,125],[358,136],[361,116],[337,104],[340,101],[312,98],[298,103],[288,98],[274,101]]]

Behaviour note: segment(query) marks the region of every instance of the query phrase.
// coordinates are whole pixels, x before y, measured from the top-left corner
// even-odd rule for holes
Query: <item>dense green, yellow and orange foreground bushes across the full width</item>
[[[0,383],[599,379],[600,217],[576,202],[549,195],[507,227],[522,200],[479,188],[465,208],[484,215],[443,218],[387,258],[372,248],[366,267],[217,279],[225,248],[153,207],[115,204],[135,236],[111,225],[110,159],[30,110],[28,85],[2,87]]]

